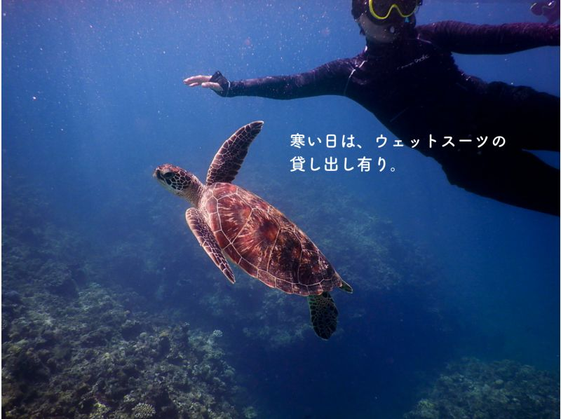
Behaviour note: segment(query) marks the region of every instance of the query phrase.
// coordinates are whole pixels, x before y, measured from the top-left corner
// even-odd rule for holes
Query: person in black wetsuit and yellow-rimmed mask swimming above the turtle
[[[445,21],[416,27],[419,6],[420,0],[353,0],[351,13],[366,37],[365,50],[353,58],[291,76],[229,81],[217,71],[184,83],[223,97],[349,97],[403,144],[417,143],[416,150],[437,160],[451,184],[558,216],[560,172],[528,150],[560,151],[559,97],[464,74],[452,53],[558,46],[559,26]],[[443,147],[445,137],[454,146]],[[505,139],[503,146],[492,144],[496,137]]]

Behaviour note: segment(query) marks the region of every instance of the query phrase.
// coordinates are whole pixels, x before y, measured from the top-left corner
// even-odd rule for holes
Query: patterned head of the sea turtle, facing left
[[[174,195],[189,200],[195,207],[198,205],[204,186],[191,172],[166,163],[156,167],[152,176]]]

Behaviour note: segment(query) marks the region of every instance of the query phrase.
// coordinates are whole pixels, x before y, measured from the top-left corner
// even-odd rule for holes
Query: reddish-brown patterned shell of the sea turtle
[[[342,284],[309,237],[257,195],[218,182],[205,188],[199,209],[224,253],[269,287],[309,296]]]

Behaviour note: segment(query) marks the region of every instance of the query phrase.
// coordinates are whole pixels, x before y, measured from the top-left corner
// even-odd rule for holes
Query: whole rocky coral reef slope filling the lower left
[[[222,332],[153,310],[107,255],[15,209],[2,236],[3,418],[243,417]]]

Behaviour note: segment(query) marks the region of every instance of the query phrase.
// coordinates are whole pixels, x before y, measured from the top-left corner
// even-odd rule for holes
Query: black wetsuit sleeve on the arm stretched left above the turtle
[[[223,97],[261,96],[271,99],[297,99],[320,95],[344,95],[353,71],[351,60],[336,60],[316,69],[291,76],[267,76],[228,81],[217,71],[210,81],[219,83]]]

